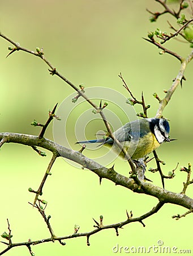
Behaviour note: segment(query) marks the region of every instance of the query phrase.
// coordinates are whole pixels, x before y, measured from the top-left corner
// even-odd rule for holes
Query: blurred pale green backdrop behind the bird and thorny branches
[[[45,56],[54,67],[76,85],[83,83],[86,88],[105,86],[129,97],[118,78],[122,72],[137,98],[143,90],[145,102],[151,105],[148,115],[153,117],[158,102],[152,94],[157,92],[164,97],[163,90],[171,86],[180,65],[169,55],[159,55],[156,47],[142,39],[157,27],[168,30],[166,19],[176,25],[169,15],[159,18],[157,23],[150,23],[146,8],[162,10],[153,0],[7,0],[0,3],[0,30],[33,51],[37,46],[43,47]],[[8,46],[11,44],[0,38],[1,131],[37,135],[40,129],[30,125],[32,120],[44,123],[48,110],[56,102],[61,104],[74,91],[58,77],[50,76],[45,63],[37,57],[15,52],[5,59]],[[191,51],[188,44],[177,41],[169,42],[167,46],[183,56]],[[177,89],[164,110],[164,116],[170,119],[171,138],[178,139],[157,150],[160,159],[166,162],[163,167],[165,174],[173,170],[177,162],[179,166],[187,166],[192,161],[192,63],[188,65],[185,76],[187,81],[183,88]],[[139,111],[137,106],[136,112]],[[125,116],[119,118],[124,123]],[[74,120],[70,120],[68,127],[73,132],[69,137],[73,141]],[[96,131],[104,129],[104,126],[100,128],[100,123]],[[95,138],[96,131],[89,129],[89,138]],[[53,138],[52,125],[46,138]],[[78,146],[73,147],[79,150]],[[0,233],[7,231],[8,218],[13,242],[50,236],[40,213],[28,204],[34,199],[28,188],[38,188],[52,156],[50,152],[46,153],[47,157],[41,158],[30,147],[18,144],[5,144],[1,149]],[[85,150],[84,154],[89,155],[89,151]],[[97,154],[101,153],[97,151]],[[96,152],[93,153],[95,156]],[[127,163],[121,159],[114,160],[114,163],[116,171],[128,175]],[[149,166],[155,167],[155,164]],[[179,172],[179,168],[175,173],[174,179],[165,181],[165,187],[181,192],[186,175]],[[161,187],[158,174],[147,172],[147,176]],[[187,195],[192,196],[192,192],[189,187]],[[100,186],[98,177],[91,171],[75,168],[63,159],[54,164],[42,199],[48,201],[46,214],[52,216],[50,223],[56,236],[72,234],[75,224],[80,225],[79,232],[88,232],[93,229],[92,217],[98,220],[101,214],[107,225],[125,220],[126,209],[132,210],[137,217],[157,204],[154,198],[115,187],[108,180],[102,180]],[[127,225],[119,230],[119,237],[114,230],[104,230],[90,238],[91,246],[87,246],[83,237],[67,240],[66,246],[55,242],[32,246],[32,250],[36,255],[46,256],[114,255],[112,248],[117,244],[148,247],[157,246],[158,240],[162,240],[165,246],[193,250],[191,214],[179,221],[171,218],[184,212],[186,209],[181,207],[165,205],[157,214],[144,220],[145,228],[139,223]],[[4,248],[0,244],[0,250]],[[29,255],[29,252],[25,247],[17,247],[7,255]]]

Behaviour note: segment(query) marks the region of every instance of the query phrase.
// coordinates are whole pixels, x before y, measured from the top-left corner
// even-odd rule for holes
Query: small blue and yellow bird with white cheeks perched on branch
[[[166,119],[144,118],[126,123],[113,134],[131,156],[131,159],[139,160],[156,150],[162,142],[170,142],[169,131],[170,126]],[[125,158],[121,149],[110,137],[76,143],[101,143],[112,147],[122,158]]]

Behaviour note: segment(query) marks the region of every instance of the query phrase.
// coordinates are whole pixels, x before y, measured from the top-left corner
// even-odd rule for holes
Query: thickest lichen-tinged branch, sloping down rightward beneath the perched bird
[[[9,143],[38,146],[51,152],[55,152],[55,154],[58,154],[59,152],[61,157],[70,159],[81,166],[84,166],[88,170],[94,172],[98,177],[111,180],[114,184],[121,185],[122,187],[131,189],[134,192],[145,193],[146,195],[156,197],[158,200],[165,201],[166,203],[181,205],[187,209],[193,208],[193,199],[186,195],[169,192],[166,191],[166,189],[159,188],[150,183],[145,183],[144,181],[141,181],[143,188],[140,188],[133,179],[118,174],[118,172],[112,169],[109,170],[108,168],[101,166],[101,164],[96,163],[94,160],[82,155],[80,152],[63,147],[57,143],[54,143],[53,141],[50,141],[49,139],[44,138],[44,140],[40,141],[37,136],[17,133],[0,133],[0,139],[2,139],[2,137],[5,135],[7,135]]]

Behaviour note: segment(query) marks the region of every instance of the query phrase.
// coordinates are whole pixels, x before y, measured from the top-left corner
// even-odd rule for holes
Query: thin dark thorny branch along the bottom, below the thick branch
[[[31,204],[31,203],[29,203]],[[33,204],[31,204],[33,205]],[[145,218],[148,218],[149,216],[152,216],[153,214],[157,213],[158,210],[161,209],[161,207],[164,205],[164,203],[162,202],[158,202],[158,204],[156,205],[156,207],[153,207],[152,210],[149,210],[149,212],[141,215],[140,217],[135,217],[133,218],[133,214],[132,211],[130,212],[130,215],[128,214],[127,210],[126,210],[126,214],[127,214],[127,219],[125,221],[122,222],[118,222],[116,224],[111,224],[111,225],[103,225],[102,224],[102,216],[100,216],[100,224],[98,224],[97,221],[95,221],[95,223],[97,224],[94,225],[96,229],[90,231],[90,232],[86,232],[86,233],[73,233],[69,236],[62,236],[62,237],[56,237],[54,235],[53,229],[50,225],[49,219],[51,216],[46,217],[44,209],[41,208],[40,204],[36,204],[35,208],[38,209],[38,211],[40,212],[41,216],[44,218],[44,221],[46,222],[48,229],[50,231],[51,237],[50,238],[45,238],[42,240],[36,240],[36,241],[31,241],[31,239],[28,240],[28,242],[20,242],[20,243],[6,243],[6,242],[2,242],[5,245],[7,245],[7,248],[3,251],[1,251],[0,255],[3,255],[4,253],[6,253],[8,250],[12,249],[13,247],[17,247],[17,246],[27,246],[29,249],[29,252],[31,253],[31,255],[34,255],[32,250],[31,250],[31,246],[32,245],[38,245],[39,243],[44,243],[44,242],[54,242],[54,241],[59,241],[59,243],[61,243],[61,245],[66,245],[65,242],[62,242],[62,240],[67,240],[67,239],[71,239],[71,238],[75,238],[75,237],[87,237],[87,245],[89,246],[89,237],[91,237],[93,234],[96,234],[102,230],[105,229],[115,229],[116,235],[119,236],[118,233],[118,229],[122,228],[123,226],[130,224],[131,222],[140,222],[143,227],[145,227],[145,224],[143,223],[143,220]],[[102,218],[101,218],[102,217]]]

